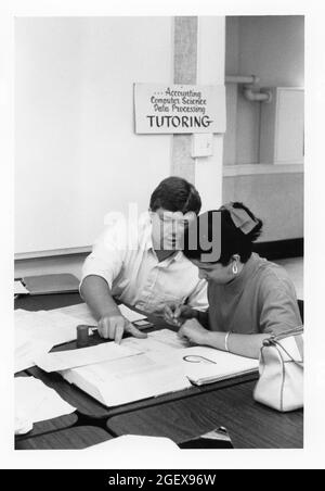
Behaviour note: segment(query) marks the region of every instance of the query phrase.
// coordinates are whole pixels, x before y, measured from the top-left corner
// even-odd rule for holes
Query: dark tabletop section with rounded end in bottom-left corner
[[[95,426],[79,426],[15,442],[15,450],[78,450],[112,440],[113,437]]]

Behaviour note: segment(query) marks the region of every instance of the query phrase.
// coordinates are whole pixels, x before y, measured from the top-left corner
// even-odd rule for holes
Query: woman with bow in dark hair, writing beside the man
[[[216,234],[216,214],[221,238],[219,230]],[[199,277],[208,281],[209,311],[200,313],[186,305],[166,307],[165,318],[181,326],[180,337],[258,358],[266,338],[301,325],[295,287],[286,270],[252,252],[261,228],[262,222],[243,203],[206,212],[190,226],[184,254],[198,267]],[[193,242],[195,236],[193,247],[190,239]],[[209,262],[212,247],[218,249],[218,238],[220,256]]]

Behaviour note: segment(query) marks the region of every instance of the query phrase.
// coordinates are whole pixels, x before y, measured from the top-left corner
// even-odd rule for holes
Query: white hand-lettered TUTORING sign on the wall
[[[136,134],[225,133],[223,85],[134,84]]]

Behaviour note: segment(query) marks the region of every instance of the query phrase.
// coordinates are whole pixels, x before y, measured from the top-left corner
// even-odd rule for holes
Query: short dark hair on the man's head
[[[170,212],[199,213],[200,198],[195,187],[182,177],[171,176],[161,180],[151,197],[153,212],[162,207]]]

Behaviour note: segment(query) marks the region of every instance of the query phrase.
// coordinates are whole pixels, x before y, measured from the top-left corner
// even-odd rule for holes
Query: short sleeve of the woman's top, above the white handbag
[[[260,289],[261,332],[277,335],[301,326],[295,287],[289,278],[265,278]]]

